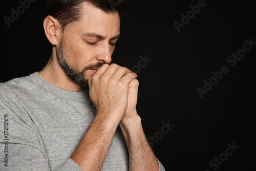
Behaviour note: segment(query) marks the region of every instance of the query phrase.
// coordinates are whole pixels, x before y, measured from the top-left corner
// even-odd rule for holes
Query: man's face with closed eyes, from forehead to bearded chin
[[[120,18],[118,12],[108,14],[89,3],[81,6],[81,20],[66,26],[56,55],[71,80],[87,86],[88,78],[103,63],[111,62],[120,35]]]

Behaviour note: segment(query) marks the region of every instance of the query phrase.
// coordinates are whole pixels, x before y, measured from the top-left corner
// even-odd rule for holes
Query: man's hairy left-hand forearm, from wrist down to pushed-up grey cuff
[[[82,170],[101,170],[117,126],[98,113],[70,158]]]

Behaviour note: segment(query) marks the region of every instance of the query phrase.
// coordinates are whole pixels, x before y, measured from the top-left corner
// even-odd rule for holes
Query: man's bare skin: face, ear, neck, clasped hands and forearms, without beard
[[[113,44],[120,34],[119,14],[108,14],[89,3],[81,5],[81,20],[69,24],[64,32],[55,18],[46,17],[44,28],[53,45],[52,55],[47,66],[39,72],[42,78],[61,89],[72,92],[83,89],[65,74],[57,61],[56,49],[61,37],[65,40],[65,59],[76,71],[80,72],[92,63],[105,63],[96,72],[84,71],[97,115],[70,158],[82,170],[101,170],[120,124],[129,151],[129,169],[159,170],[157,158],[145,138],[141,118],[136,111],[137,74],[125,67],[108,64],[115,49]]]

